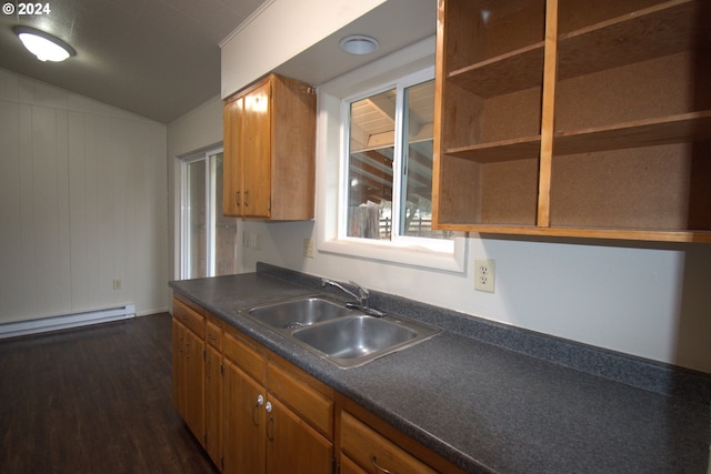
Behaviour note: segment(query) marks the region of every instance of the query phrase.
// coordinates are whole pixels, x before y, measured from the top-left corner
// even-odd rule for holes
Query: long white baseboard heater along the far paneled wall
[[[0,324],[0,339],[80,327],[90,324],[108,323],[111,321],[128,320],[134,316],[136,306],[133,304],[127,304],[126,306],[110,307],[107,310],[90,311],[86,313],[18,321]]]

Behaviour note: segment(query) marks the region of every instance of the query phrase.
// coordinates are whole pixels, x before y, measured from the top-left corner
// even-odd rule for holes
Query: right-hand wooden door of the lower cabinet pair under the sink
[[[331,473],[333,444],[277,399],[270,397],[269,403],[267,473]]]

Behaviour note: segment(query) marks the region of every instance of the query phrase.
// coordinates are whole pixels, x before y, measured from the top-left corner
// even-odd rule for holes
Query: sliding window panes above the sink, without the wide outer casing
[[[346,238],[451,250],[452,232],[432,229],[434,80],[418,73],[343,102]]]

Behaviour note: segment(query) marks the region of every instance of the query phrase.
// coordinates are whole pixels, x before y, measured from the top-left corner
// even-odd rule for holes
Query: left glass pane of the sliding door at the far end
[[[188,265],[187,278],[208,276],[204,160],[188,164]]]

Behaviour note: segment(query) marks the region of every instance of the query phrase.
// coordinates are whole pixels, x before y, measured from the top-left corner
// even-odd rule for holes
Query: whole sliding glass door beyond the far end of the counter
[[[182,279],[237,273],[237,219],[222,215],[222,150],[181,163]]]

